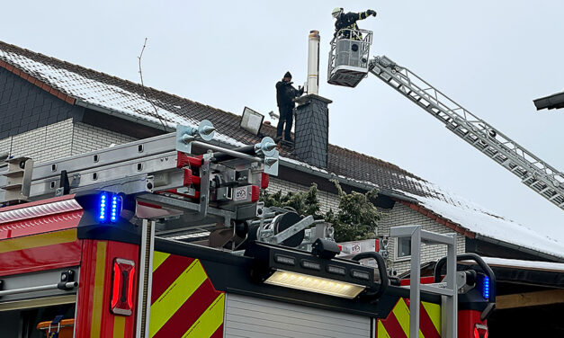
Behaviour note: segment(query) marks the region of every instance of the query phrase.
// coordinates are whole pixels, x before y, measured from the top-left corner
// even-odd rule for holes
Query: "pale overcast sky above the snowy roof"
[[[564,2],[7,2],[0,40],[226,111],[276,109],[274,83],[306,80],[308,33],[321,34],[319,94],[331,143],[399,165],[443,189],[564,242],[564,214],[375,76],[327,84],[331,11],[373,9],[372,55],[408,67],[507,136],[564,170],[564,110],[533,99],[564,88]]]

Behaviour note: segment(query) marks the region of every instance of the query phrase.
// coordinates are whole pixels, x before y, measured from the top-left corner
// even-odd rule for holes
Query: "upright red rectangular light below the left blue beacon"
[[[113,260],[112,301],[110,302],[112,314],[131,316],[134,282],[135,262],[115,258]]]

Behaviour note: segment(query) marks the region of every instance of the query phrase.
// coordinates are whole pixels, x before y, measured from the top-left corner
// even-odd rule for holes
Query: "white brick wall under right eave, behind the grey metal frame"
[[[378,234],[380,236],[389,236],[389,227],[398,226],[414,226],[421,225],[423,229],[433,231],[440,234],[452,233],[452,229],[444,227],[443,225],[435,222],[431,218],[418,213],[416,210],[410,209],[401,203],[396,203],[394,208],[387,212],[384,217],[380,219]],[[457,252],[464,253],[466,250],[465,237],[461,234],[456,234],[457,237]],[[396,240],[389,241],[389,258],[392,260],[393,267],[398,270],[398,273],[409,270],[409,260],[396,259]],[[421,262],[434,261],[446,255],[446,246],[444,245],[422,245],[421,246]]]

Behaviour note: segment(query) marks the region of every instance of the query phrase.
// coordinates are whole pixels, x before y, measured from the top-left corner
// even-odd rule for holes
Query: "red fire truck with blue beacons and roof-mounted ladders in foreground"
[[[278,173],[272,138],[214,135],[202,121],[39,165],[8,158],[2,337],[488,336],[495,276],[456,256],[454,234],[392,229],[411,238],[411,280],[378,250],[342,258],[330,224],[259,201]],[[432,278],[422,243],[448,248]],[[479,269],[457,265],[469,259]]]

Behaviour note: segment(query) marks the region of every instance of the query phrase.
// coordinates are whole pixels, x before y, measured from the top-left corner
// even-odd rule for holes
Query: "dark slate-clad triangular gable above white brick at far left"
[[[21,135],[70,118],[84,108],[69,104],[20,76],[0,68],[0,139]]]

